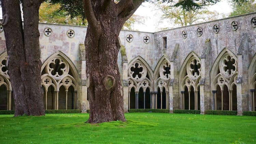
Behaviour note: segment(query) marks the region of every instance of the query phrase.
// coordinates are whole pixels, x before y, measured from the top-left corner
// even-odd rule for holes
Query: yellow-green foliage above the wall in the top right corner
[[[232,12],[229,16],[236,16],[241,14],[256,12],[256,2],[255,0],[247,0],[240,3],[229,1],[232,6]]]

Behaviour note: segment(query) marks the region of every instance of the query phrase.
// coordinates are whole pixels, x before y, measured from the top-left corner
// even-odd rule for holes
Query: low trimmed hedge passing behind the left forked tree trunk
[[[1,115],[14,114],[15,110],[1,110]],[[71,113],[81,113],[81,110],[45,110],[46,114],[71,114]]]

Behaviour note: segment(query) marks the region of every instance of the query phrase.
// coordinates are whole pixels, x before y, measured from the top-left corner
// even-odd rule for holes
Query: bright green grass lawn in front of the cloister
[[[85,124],[89,114],[0,115],[0,143],[255,143],[256,117],[126,113],[127,122]]]

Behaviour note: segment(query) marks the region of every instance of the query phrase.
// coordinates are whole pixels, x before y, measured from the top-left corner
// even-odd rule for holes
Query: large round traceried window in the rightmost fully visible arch
[[[232,56],[226,55],[221,61],[220,70],[224,76],[231,77],[237,71],[236,60]]]

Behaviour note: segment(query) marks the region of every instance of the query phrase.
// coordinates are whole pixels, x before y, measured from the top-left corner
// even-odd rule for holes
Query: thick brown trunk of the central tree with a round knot
[[[87,123],[126,121],[123,87],[117,64],[118,36],[143,0],[83,0],[88,20],[85,38],[90,117]]]

